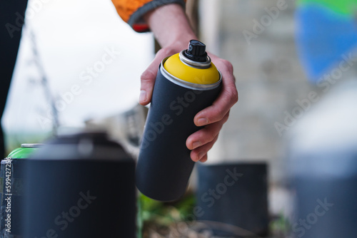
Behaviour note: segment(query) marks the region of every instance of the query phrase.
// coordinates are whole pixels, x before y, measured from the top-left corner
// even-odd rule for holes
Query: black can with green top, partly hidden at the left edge
[[[25,161],[42,144],[22,144],[1,160],[0,237],[22,237]]]

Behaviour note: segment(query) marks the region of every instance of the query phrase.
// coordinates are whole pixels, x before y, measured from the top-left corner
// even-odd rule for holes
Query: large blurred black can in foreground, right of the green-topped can
[[[135,162],[105,133],[49,141],[28,160],[24,237],[136,237]]]

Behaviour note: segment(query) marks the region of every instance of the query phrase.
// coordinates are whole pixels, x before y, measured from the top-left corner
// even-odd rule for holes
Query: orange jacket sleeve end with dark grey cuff
[[[121,19],[129,24],[134,31],[149,31],[149,26],[144,22],[142,16],[159,6],[166,4],[180,4],[185,7],[186,0],[111,0],[116,7]]]

